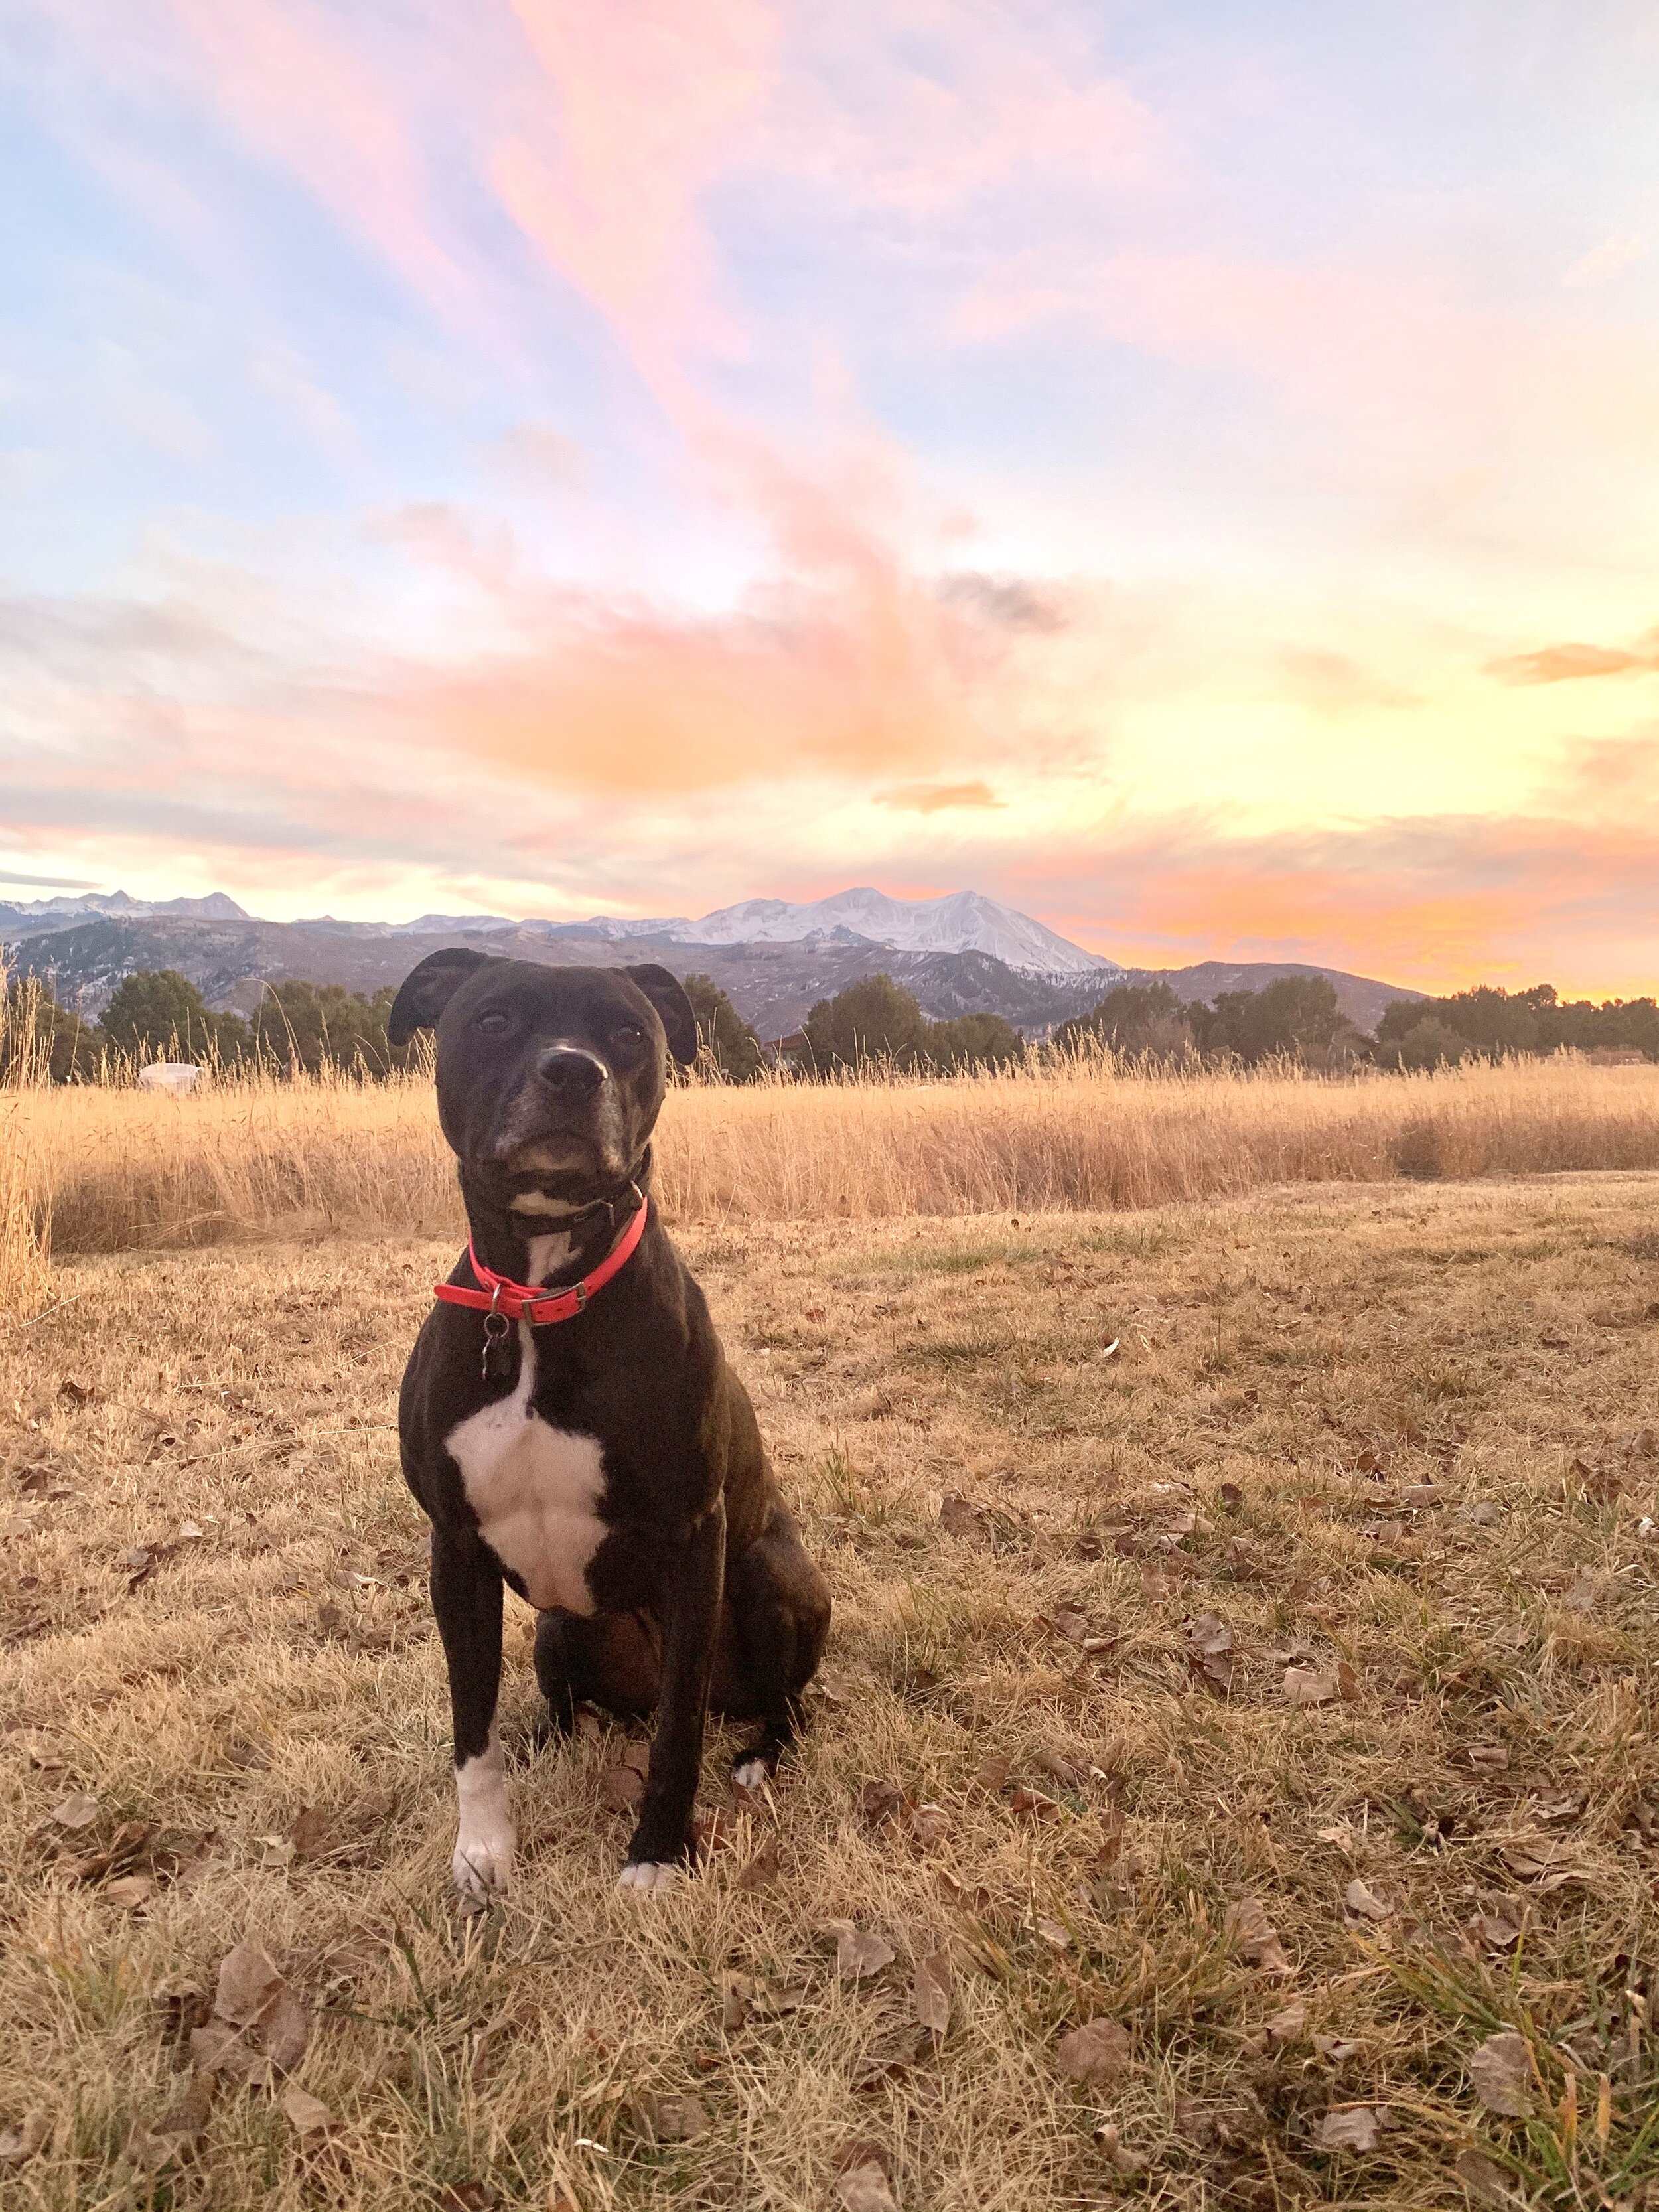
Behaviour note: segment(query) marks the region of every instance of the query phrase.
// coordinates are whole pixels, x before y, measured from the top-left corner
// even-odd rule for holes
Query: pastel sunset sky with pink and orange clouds
[[[1659,989],[1648,0],[0,0],[0,898]]]

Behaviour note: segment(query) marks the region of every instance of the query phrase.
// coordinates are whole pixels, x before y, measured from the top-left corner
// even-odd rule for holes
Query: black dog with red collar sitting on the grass
[[[394,1044],[438,1031],[438,1117],[471,1243],[403,1378],[403,1471],[431,1520],[449,1661],[462,1889],[513,1860],[495,1697],[502,1582],[540,1608],[553,1723],[577,1699],[659,1708],[624,1887],[692,1856],[710,1708],[761,1723],[772,1772],[830,1628],[830,1590],[754,1409],[650,1201],[668,1051],[697,1057],[661,967],[549,969],[440,951],[398,991]],[[538,1294],[533,1285],[549,1285]]]

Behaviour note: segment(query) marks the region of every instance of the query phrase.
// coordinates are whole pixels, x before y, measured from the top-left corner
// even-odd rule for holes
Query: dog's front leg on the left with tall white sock
[[[502,1571],[473,1528],[431,1531],[431,1610],[449,1661],[460,1827],[449,1867],[456,1889],[482,1896],[513,1874],[495,1699],[502,1686]]]

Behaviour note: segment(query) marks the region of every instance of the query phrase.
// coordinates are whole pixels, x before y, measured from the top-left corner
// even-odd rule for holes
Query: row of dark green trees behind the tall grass
[[[686,975],[703,1060],[726,1082],[757,1082],[768,1066],[754,1029],[712,975]],[[323,1066],[383,1077],[407,1066],[407,1051],[387,1042],[396,989],[374,995],[299,978],[265,984],[250,1015],[217,1013],[177,969],[124,975],[95,1022],[60,1006],[33,978],[7,989],[0,1026],[0,1077],[20,1053],[53,1082],[95,1082],[111,1057],[126,1062],[192,1060],[215,1066],[261,1066],[272,1073]],[[1509,993],[1480,984],[1449,998],[1394,1000],[1376,1037],[1338,1006],[1323,975],[1281,975],[1259,991],[1221,991],[1214,1002],[1177,998],[1168,982],[1115,984],[1088,1013],[1053,1035],[1060,1051],[1110,1048],[1152,1062],[1199,1060],[1261,1066],[1294,1060],[1334,1071],[1374,1062],[1385,1068],[1455,1066],[1515,1053],[1641,1053],[1659,1060],[1659,1004],[1650,998],[1562,1000],[1553,984]],[[865,975],[834,998],[821,998],[790,1040],[799,1073],[834,1079],[880,1064],[909,1075],[960,1075],[1006,1068],[1037,1046],[998,1013],[960,1013],[936,1022],[891,975]]]

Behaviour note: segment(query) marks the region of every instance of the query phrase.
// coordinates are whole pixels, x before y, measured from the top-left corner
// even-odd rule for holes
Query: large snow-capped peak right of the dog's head
[[[535,925],[533,925],[535,927]],[[560,925],[544,925],[549,933]],[[697,920],[626,922],[595,914],[566,925],[604,938],[657,938],[670,945],[887,945],[905,953],[991,953],[1022,975],[1121,975],[1115,960],[1088,953],[1071,938],[1033,922],[1029,914],[1000,907],[982,891],[949,891],[945,898],[889,898],[860,885],[830,898],[745,898],[717,907]]]

